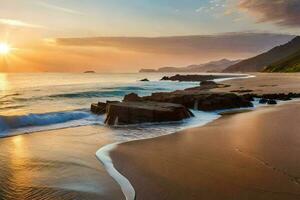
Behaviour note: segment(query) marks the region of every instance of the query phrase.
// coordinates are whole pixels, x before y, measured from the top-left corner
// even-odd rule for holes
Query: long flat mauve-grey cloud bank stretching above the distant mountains
[[[58,38],[63,46],[108,47],[141,53],[171,55],[227,55],[257,53],[289,41],[293,36],[268,33],[226,33],[175,37]]]

